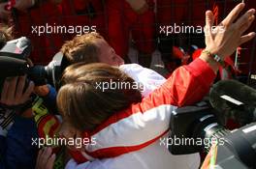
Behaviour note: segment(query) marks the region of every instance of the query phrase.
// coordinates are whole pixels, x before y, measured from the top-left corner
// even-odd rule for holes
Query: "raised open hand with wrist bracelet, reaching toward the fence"
[[[251,9],[242,16],[239,16],[240,12],[244,9],[245,4],[240,3],[216,28],[212,28],[214,16],[212,12],[206,13],[206,50],[211,54],[217,54],[221,60],[225,60],[227,56],[230,56],[237,47],[250,41],[255,37],[255,33],[251,32],[247,35],[242,34],[249,28],[253,22],[255,16],[255,10]],[[238,18],[238,19],[237,19]],[[236,22],[234,22],[237,19]],[[217,70],[217,64],[214,63],[212,58],[208,54],[202,54],[201,59],[208,62],[213,70]]]

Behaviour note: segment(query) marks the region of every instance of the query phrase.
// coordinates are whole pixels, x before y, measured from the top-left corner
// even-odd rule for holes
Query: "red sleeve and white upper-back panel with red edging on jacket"
[[[82,154],[73,152],[74,159],[81,163],[88,159],[114,157],[152,144],[168,132],[171,112],[176,106],[203,99],[214,78],[213,70],[201,59],[178,68],[166,83],[142,102],[115,113],[90,133],[96,144],[86,145]]]

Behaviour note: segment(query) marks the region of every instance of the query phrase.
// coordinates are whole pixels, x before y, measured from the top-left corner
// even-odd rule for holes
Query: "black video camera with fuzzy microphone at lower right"
[[[216,144],[216,167],[255,169],[256,90],[234,80],[223,80],[213,86],[209,101],[211,104],[203,101],[195,106],[178,108],[172,113],[169,151],[173,155],[208,152],[211,145]],[[243,115],[247,116],[245,119],[250,118],[250,121],[247,121],[249,125],[234,131],[226,129],[224,124],[220,125],[222,116],[226,116],[225,119],[240,117],[236,117],[234,112],[226,114],[226,109],[238,111],[239,114],[250,110]],[[174,140],[178,140],[178,144],[174,144]]]

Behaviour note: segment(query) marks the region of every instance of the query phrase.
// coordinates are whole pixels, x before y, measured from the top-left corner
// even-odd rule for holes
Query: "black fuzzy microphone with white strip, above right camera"
[[[209,102],[217,110],[222,125],[233,119],[240,125],[256,120],[256,90],[236,80],[221,80],[213,85]]]

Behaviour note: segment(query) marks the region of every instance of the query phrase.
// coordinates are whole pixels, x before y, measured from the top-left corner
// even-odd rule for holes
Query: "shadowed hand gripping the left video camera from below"
[[[34,91],[35,86],[34,83],[30,81],[28,87],[24,91],[25,82],[25,76],[6,79],[3,85],[0,102],[8,106],[25,103],[30,99],[30,95]]]

